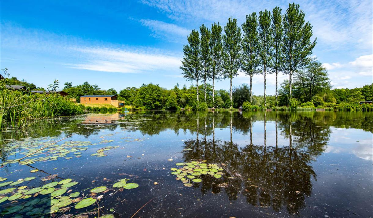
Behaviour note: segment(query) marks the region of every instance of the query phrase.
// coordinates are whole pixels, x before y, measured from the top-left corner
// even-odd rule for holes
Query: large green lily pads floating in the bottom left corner
[[[16,185],[23,183],[24,181],[30,181],[35,177],[27,177],[19,179],[16,182],[7,181],[0,183],[0,187],[12,186],[7,189],[0,190],[0,203],[4,203],[0,207],[0,215],[16,215],[22,217],[24,214],[28,217],[34,217],[37,215],[53,214],[58,211],[69,209],[74,207],[75,209],[86,208],[93,205],[98,199],[103,197],[99,196],[94,198],[97,193],[106,193],[109,189],[106,186],[96,187],[90,190],[92,197],[79,197],[81,194],[79,191],[72,192],[70,187],[75,186],[78,182],[72,181],[72,179],[64,179],[61,181],[54,181],[45,184],[42,187],[35,187],[29,189],[27,186]],[[7,178],[0,177],[0,181],[6,181]],[[136,183],[127,183],[128,179],[122,179],[113,184],[113,188],[123,189],[135,189],[138,187]],[[37,198],[37,196],[45,196],[43,198]],[[29,199],[24,201],[23,199]],[[76,203],[74,206],[69,206]],[[17,214],[15,214],[17,213]],[[112,215],[106,215],[106,217],[113,217]]]

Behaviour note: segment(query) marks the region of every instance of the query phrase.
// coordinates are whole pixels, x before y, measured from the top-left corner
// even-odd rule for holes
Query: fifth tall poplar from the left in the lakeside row
[[[253,76],[259,74],[258,64],[258,21],[256,13],[246,15],[246,22],[242,24],[242,58],[241,69],[250,76],[250,103],[253,103]]]

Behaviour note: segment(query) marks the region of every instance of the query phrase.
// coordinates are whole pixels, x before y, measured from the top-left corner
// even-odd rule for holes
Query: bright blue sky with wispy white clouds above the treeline
[[[53,80],[73,85],[88,81],[117,91],[142,83],[172,88],[182,78],[182,46],[201,24],[225,25],[292,1],[0,1],[0,68],[46,87]],[[313,25],[316,56],[328,69],[334,88],[373,82],[373,2],[296,1]],[[288,78],[280,75],[279,81]],[[248,83],[240,73],[233,85]],[[263,76],[253,78],[263,94]],[[216,84],[229,89],[229,81]],[[275,77],[267,76],[274,94]]]

